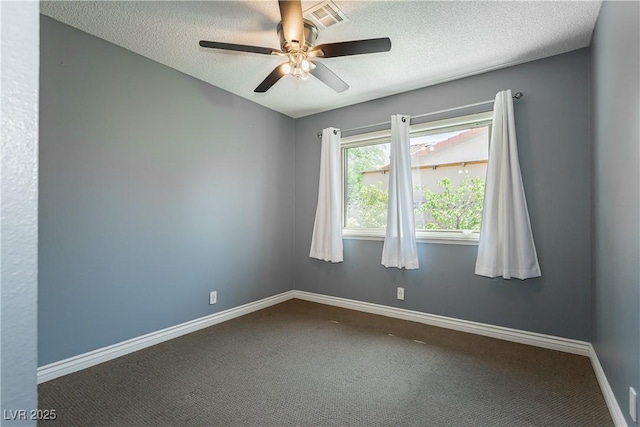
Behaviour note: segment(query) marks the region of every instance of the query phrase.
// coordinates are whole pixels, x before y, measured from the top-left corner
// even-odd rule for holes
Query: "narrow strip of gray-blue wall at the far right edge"
[[[592,43],[593,346],[629,425],[640,392],[640,4],[604,2]]]

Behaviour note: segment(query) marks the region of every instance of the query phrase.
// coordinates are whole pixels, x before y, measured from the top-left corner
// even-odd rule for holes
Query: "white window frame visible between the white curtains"
[[[488,127],[488,138],[491,140],[491,131],[493,128],[493,111],[485,111],[480,113],[465,114],[462,116],[450,117],[446,119],[426,121],[410,125],[409,137],[417,138],[420,136],[431,135],[435,133],[445,133],[455,131],[457,129],[472,129],[477,127]],[[388,143],[391,140],[391,129],[383,129],[373,132],[359,133],[342,137],[340,139],[340,169],[341,169],[341,195],[342,204],[342,238],[355,240],[376,240],[382,241],[385,238],[386,228],[347,228],[345,225],[347,195],[345,192],[347,183],[347,164],[345,152],[349,148],[364,147],[375,144]],[[423,230],[416,229],[416,241],[419,243],[441,243],[455,245],[477,245],[480,239],[480,232],[466,230]]]

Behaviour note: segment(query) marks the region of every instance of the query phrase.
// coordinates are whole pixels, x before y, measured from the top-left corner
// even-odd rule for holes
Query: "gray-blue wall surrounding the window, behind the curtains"
[[[542,277],[474,275],[477,246],[418,244],[420,269],[386,269],[382,242],[345,240],[344,263],[308,257],[318,131],[384,122],[524,92],[518,150]],[[560,337],[591,338],[589,51],[535,61],[296,120],[297,289]],[[396,299],[405,287],[405,301]]]

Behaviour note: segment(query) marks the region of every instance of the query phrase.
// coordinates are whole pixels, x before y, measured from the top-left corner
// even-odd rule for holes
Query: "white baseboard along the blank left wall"
[[[142,350],[143,348],[159,344],[163,341],[177,338],[181,335],[195,332],[197,330],[279,304],[293,298],[293,294],[294,291],[284,292],[272,297],[230,308],[219,313],[214,313],[199,319],[194,319],[176,326],[171,326],[130,340],[99,348],[88,353],[83,353],[78,356],[41,366],[38,368],[38,384],[95,366],[99,363],[107,362],[117,357],[124,356],[125,354],[133,353],[134,351]]]

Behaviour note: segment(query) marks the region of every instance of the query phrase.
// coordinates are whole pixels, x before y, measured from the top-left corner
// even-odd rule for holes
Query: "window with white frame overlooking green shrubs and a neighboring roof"
[[[410,127],[416,236],[477,242],[492,113]],[[342,138],[343,236],[384,237],[390,130]]]

